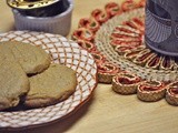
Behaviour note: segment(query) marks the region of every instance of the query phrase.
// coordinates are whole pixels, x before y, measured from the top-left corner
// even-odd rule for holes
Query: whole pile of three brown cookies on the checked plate
[[[69,98],[76,72],[50,62],[50,55],[31,44],[0,43],[0,111],[18,106],[42,108]]]

